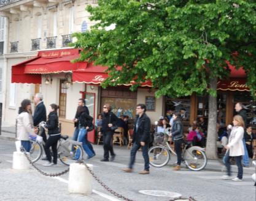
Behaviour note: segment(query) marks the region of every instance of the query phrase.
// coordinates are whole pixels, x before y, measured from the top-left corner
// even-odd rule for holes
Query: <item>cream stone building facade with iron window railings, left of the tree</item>
[[[145,102],[149,106],[151,104],[147,114],[152,121],[162,115],[163,98],[156,99],[149,87],[142,87],[136,92],[130,92],[127,87],[101,89],[93,81],[72,81],[72,70],[35,71],[35,74],[30,72],[31,76],[41,76],[41,83],[28,84],[18,78],[12,83],[14,79],[12,66],[21,62],[26,63],[26,60],[34,57],[39,58],[39,54],[41,59],[45,60],[54,59],[57,52],[66,55],[70,48],[68,43],[72,41],[71,34],[86,31],[93,24],[88,20],[89,13],[85,7],[88,4],[96,6],[96,3],[97,1],[93,0],[6,0],[0,5],[0,15],[7,18],[8,32],[5,41],[7,48],[4,54],[6,79],[3,122],[14,125],[14,117],[18,114],[21,101],[25,98],[33,100],[37,92],[44,95],[47,109],[51,103],[60,105],[62,133],[69,135],[72,135],[74,130],[72,119],[76,113],[77,100],[82,97],[87,99],[88,108],[95,119],[96,114],[101,112],[101,107],[106,102],[114,106],[116,113],[118,108],[121,108],[122,114],[130,115],[131,119],[134,118],[136,104]],[[44,57],[45,55],[51,55],[51,57]],[[48,69],[47,66],[45,65],[44,69]],[[73,83],[67,84],[67,81]]]

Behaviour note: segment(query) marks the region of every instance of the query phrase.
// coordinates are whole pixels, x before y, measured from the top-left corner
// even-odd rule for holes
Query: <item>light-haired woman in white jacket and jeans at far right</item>
[[[235,115],[233,125],[230,137],[228,138],[228,144],[225,146],[227,153],[224,162],[227,167],[227,175],[224,175],[222,178],[227,180],[231,177],[230,156],[233,156],[236,160],[236,166],[238,166],[238,176],[232,180],[242,181],[242,156],[244,155],[242,137],[244,136],[244,120],[242,120],[240,115]]]

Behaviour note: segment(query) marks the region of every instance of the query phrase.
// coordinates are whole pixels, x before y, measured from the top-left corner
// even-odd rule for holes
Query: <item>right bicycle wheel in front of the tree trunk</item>
[[[184,161],[187,167],[193,171],[202,170],[207,164],[206,154],[200,147],[190,147],[185,150]]]

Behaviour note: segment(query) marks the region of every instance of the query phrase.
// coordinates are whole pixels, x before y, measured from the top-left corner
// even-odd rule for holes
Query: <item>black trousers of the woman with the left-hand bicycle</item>
[[[57,145],[58,145],[58,140],[60,139],[60,134],[56,136],[49,136],[46,144],[45,144],[45,154],[47,157],[47,160],[51,163],[52,162],[52,156],[50,153],[50,147],[52,147],[52,153],[53,153],[53,163],[57,164],[57,159],[58,159],[58,150],[57,150]]]

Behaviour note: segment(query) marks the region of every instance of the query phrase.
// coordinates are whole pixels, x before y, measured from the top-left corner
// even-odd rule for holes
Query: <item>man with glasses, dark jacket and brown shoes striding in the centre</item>
[[[139,174],[149,174],[149,142],[150,142],[150,119],[145,114],[145,104],[138,104],[136,107],[137,117],[134,122],[133,147],[131,148],[131,158],[128,168],[122,169],[124,172],[133,172],[136,153],[142,147],[144,158],[144,170]]]

